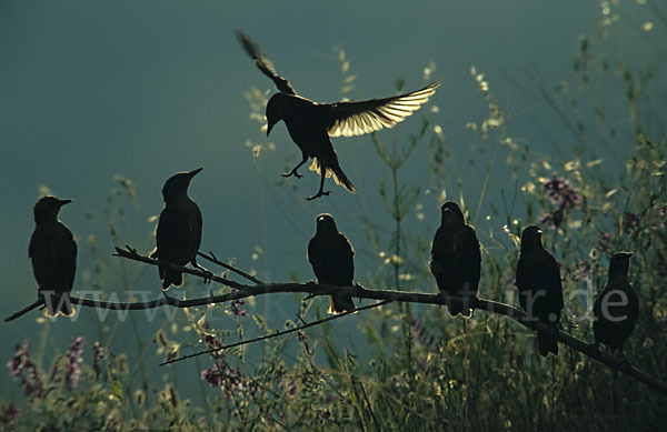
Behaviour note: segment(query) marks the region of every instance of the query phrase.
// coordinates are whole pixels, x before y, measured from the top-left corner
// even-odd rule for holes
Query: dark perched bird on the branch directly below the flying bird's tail
[[[308,261],[318,283],[335,287],[352,287],[355,277],[355,250],[348,239],[336,227],[329,213],[319,214],[316,219],[316,233],[308,242]],[[330,314],[355,310],[350,294],[332,294],[329,297]]]

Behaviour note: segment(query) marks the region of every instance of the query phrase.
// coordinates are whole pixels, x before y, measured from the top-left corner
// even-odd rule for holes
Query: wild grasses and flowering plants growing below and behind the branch
[[[504,112],[490,84],[476,69],[471,70],[472,80],[489,114],[468,123],[467,129],[476,145],[494,149],[490,165],[482,168],[487,174],[477,202],[462,199],[466,178],[456,169],[458,160],[440,125],[425,119],[404,149],[396,135],[390,145],[372,138],[379,163],[390,173],[391,187],[382,183],[380,195],[394,229],[387,232],[362,218],[378,258],[378,270],[365,283],[434,285],[426,262],[436,228],[406,228],[407,217],[420,220],[422,208],[416,203],[420,189],[398,181],[404,162],[426,140],[434,179],[431,197],[444,200],[456,190],[480,233],[480,297],[516,303],[518,235],[522,227],[538,222],[545,228],[547,249],[559,261],[564,278],[566,310],[561,328],[593,342],[589,311],[595,294],[606,283],[608,259],[614,251],[633,251],[630,279],[641,299],[640,319],[626,345],[626,355],[648,373],[667,380],[667,138],[653,127],[660,124],[659,120],[640,109],[644,90],[655,84],[654,69],[634,70],[623,62],[610,68],[606,60],[611,26],[606,21],[608,14],[598,37],[580,41],[573,82],[563,82],[552,92],[540,84],[532,89],[547,100],[563,121],[563,130],[568,131],[568,158],[564,159],[566,152],[534,152],[529,143],[514,137],[511,115]],[[339,59],[345,74],[342,92],[348,93],[355,76],[342,51]],[[430,64],[428,73],[434,70]],[[607,90],[616,89],[616,96],[593,97],[598,89],[591,87],[600,81],[610,82]],[[256,90],[249,94],[253,117],[261,121],[266,93]],[[614,113],[607,112],[619,101],[627,109],[628,127],[623,130],[616,125],[619,122],[608,121]],[[437,110],[431,110],[434,113]],[[270,143],[248,145],[256,159],[262,150],[273,150]],[[489,200],[487,185],[501,155],[506,157],[509,174],[521,184],[517,193],[525,207],[515,210],[515,198],[508,208],[505,197],[504,212],[497,210],[495,201],[490,203],[494,218],[507,222],[501,230],[494,230],[479,221],[479,214],[482,203]],[[113,235],[112,222],[109,225]],[[300,304],[299,320],[320,315],[316,302],[303,300]],[[216,313],[233,317],[236,328],[216,329],[211,320]],[[337,342],[328,323],[285,339],[270,339],[258,355],[249,355],[241,348],[216,352],[206,365],[197,363],[196,379],[208,386],[197,403],[179,396],[168,373],[161,386],[138,383],[138,374],[129,371],[137,372],[143,365],[128,364],[126,354],[113,353],[97,342],[86,351],[86,341],[73,338],[49,369],[41,369],[28,343],[18,345],[8,368],[26,399],[3,402],[0,426],[659,430],[667,420],[663,395],[568,349],[561,349],[558,356],[542,359],[537,354],[535,335],[510,320],[480,311],[470,320],[452,320],[441,308],[410,304],[390,304],[362,313],[355,338],[358,343],[366,342],[368,352],[348,351],[349,346]],[[250,317],[242,302],[229,308],[186,310],[176,323],[183,331],[182,340],[170,340],[166,330],[155,338],[158,353],[166,359],[177,356],[185,345],[216,348],[226,340],[242,339],[247,331],[275,331],[260,314]],[[288,321],[286,326],[298,324]]]

